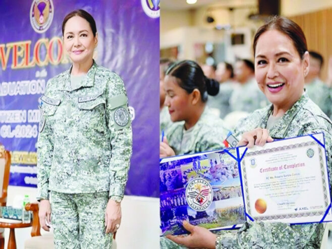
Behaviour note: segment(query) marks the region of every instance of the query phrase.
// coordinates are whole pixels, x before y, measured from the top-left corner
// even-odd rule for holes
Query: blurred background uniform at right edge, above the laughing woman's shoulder
[[[317,104],[320,109],[326,114],[330,115],[332,102],[330,101],[330,89],[319,78],[315,78],[312,82],[305,84],[306,92],[309,98]]]

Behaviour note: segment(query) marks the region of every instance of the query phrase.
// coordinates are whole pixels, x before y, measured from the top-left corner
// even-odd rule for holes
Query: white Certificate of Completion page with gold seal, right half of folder
[[[256,221],[331,221],[323,134],[239,148],[245,212]]]

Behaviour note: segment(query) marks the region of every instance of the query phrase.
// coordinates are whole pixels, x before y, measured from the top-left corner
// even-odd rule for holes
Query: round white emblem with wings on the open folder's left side
[[[193,210],[206,210],[211,205],[213,199],[210,183],[203,178],[193,179],[186,188],[186,199],[188,205]]]

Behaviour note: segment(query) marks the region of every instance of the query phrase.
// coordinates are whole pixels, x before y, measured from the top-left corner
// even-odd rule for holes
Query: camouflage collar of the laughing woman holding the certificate
[[[303,105],[308,102],[308,99],[309,97],[307,93],[304,92],[300,99],[296,101],[293,106],[285,112],[282,118],[280,118],[279,121],[276,122],[275,125],[270,129],[269,134],[272,138],[282,139],[286,137],[294,117],[299,112],[299,110],[302,109]],[[258,127],[266,128],[267,119],[271,115],[272,111],[273,105],[271,105],[270,108],[267,109],[267,113],[264,113],[264,117],[261,119],[260,126]]]

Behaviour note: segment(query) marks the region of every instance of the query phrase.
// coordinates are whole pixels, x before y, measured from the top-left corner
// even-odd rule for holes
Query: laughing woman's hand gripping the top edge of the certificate
[[[264,146],[266,142],[272,142],[273,139],[268,135],[268,131],[262,128],[256,128],[250,132],[242,135],[238,146],[246,145],[247,148],[252,148],[254,145]]]

